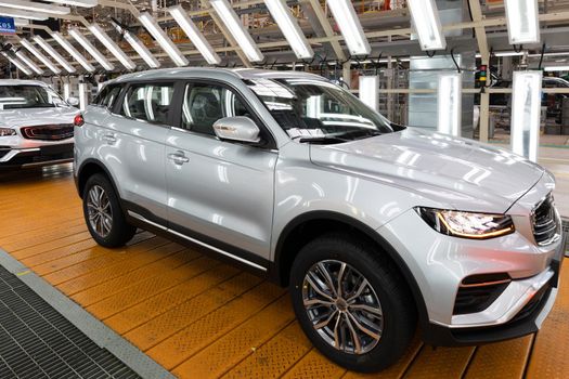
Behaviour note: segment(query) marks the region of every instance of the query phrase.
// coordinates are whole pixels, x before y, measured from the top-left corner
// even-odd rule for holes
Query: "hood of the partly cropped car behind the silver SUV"
[[[0,125],[8,128],[18,128],[50,123],[73,123],[78,112],[74,107],[0,110]]]

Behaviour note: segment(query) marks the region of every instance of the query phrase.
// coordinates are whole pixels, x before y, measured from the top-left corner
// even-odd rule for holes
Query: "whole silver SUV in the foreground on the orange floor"
[[[314,75],[164,69],[109,82],[75,129],[87,225],[137,227],[288,286],[332,361],[538,330],[564,238],[554,179],[507,151],[391,125]]]

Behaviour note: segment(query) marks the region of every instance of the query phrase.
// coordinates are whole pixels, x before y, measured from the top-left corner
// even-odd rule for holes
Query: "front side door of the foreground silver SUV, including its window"
[[[170,228],[262,265],[270,251],[277,159],[272,136],[234,89],[208,81],[180,88],[178,127],[166,142]],[[254,119],[267,144],[220,141],[212,125],[228,116]]]

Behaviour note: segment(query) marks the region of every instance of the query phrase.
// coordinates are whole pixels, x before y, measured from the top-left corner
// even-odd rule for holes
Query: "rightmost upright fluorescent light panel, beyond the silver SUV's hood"
[[[514,71],[512,86],[512,149],[538,161],[542,71]]]

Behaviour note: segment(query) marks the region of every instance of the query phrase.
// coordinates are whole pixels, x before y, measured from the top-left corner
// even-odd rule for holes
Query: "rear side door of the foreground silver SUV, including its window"
[[[102,133],[104,159],[128,208],[166,223],[165,140],[171,126],[173,82],[128,86]]]

